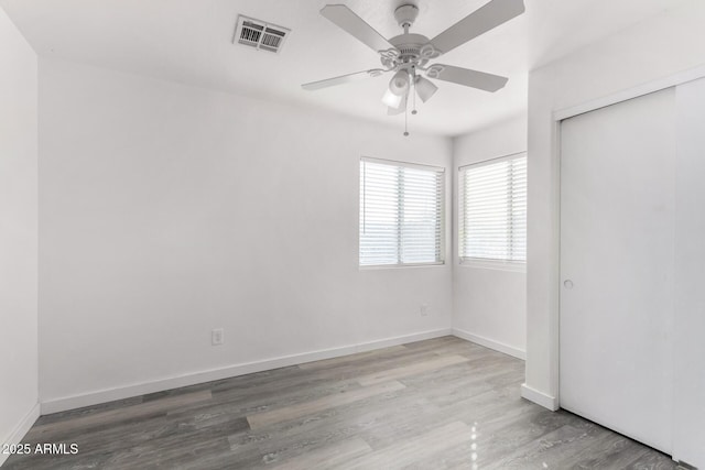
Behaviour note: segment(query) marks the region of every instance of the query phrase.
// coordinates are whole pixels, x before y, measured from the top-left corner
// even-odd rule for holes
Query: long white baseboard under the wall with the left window
[[[451,335],[451,329],[438,329],[423,331],[413,335],[386,338],[376,341],[368,341],[358,345],[344,346],[340,348],[324,349],[318,351],[304,352],[300,354],[283,356],[262,361],[248,362],[245,364],[228,365],[225,368],[212,369],[202,372],[194,372],[166,379],[158,379],[151,382],[143,382],[121,387],[100,390],[80,395],[66,396],[62,398],[42,402],[42,414],[65,412],[67,409],[80,408],[84,406],[97,405],[100,403],[124,400],[140,396],[148,393],[162,392],[181,386],[195,385],[198,383],[223,380],[253,372],[268,371],[272,369],[285,368],[289,365],[303,364],[305,362],[321,361],[323,359],[338,358],[354,354],[356,352],[371,351],[373,349],[389,348],[406,342],[422,341],[424,339],[438,338]]]

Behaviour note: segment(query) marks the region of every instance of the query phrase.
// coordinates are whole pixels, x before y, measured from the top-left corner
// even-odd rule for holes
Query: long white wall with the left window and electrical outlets
[[[448,330],[449,265],[358,269],[359,157],[449,168],[447,139],[44,58],[40,101],[47,409]]]

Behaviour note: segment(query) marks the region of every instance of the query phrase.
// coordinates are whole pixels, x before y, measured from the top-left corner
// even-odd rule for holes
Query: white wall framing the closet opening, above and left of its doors
[[[557,128],[553,112],[705,63],[705,2],[693,0],[529,77],[528,337],[524,395],[557,405]]]

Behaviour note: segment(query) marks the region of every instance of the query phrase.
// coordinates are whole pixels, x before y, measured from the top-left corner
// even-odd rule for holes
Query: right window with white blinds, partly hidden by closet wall
[[[527,261],[527,154],[459,168],[460,261]]]

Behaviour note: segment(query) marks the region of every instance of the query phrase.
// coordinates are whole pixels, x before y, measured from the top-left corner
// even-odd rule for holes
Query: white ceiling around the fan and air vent
[[[456,135],[527,107],[528,70],[686,0],[525,0],[527,13],[440,62],[510,77],[497,94],[437,83],[412,130]],[[412,32],[435,36],[487,0],[0,0],[40,55],[238,94],[315,106],[403,125],[380,102],[388,78],[318,91],[300,85],[379,66],[378,56],[318,14],[345,3],[383,36],[401,33],[393,10],[412,2]],[[238,14],[293,30],[281,54],[231,43]],[[302,107],[302,112],[305,107]]]

